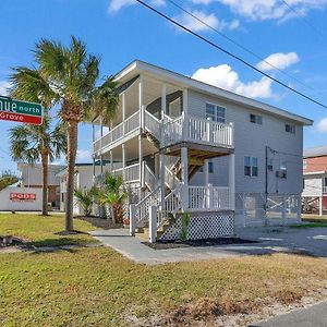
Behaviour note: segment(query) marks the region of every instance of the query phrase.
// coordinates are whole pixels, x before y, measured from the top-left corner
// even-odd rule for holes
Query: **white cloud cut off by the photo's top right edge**
[[[286,20],[298,16],[280,0],[193,0],[194,3],[208,4],[219,1],[228,5],[231,11],[252,21]],[[305,15],[312,9],[322,9],[327,0],[288,0],[300,15]]]

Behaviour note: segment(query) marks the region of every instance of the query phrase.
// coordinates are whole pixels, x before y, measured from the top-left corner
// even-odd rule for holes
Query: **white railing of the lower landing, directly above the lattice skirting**
[[[189,186],[190,210],[230,210],[230,187]]]

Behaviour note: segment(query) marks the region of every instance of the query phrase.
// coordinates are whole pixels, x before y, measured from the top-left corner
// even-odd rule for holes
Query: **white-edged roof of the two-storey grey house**
[[[303,125],[312,125],[313,120],[307,119],[305,117],[291,113],[287,110],[279,109],[277,107],[267,105],[265,102],[254,100],[241,95],[238,95],[235,93],[222,89],[217,86],[213,86],[199,81],[196,81],[194,78],[191,78],[189,76],[182,75],[180,73],[141,61],[135,60],[128,64],[125,68],[123,68],[120,72],[116,74],[116,80],[121,83],[126,83],[131,78],[134,78],[135,76],[140,74],[148,74],[148,75],[155,75],[156,78],[161,81],[171,82],[172,84],[178,84],[182,87],[187,87],[191,89],[198,90],[201,93],[205,93],[208,95],[214,95],[216,97],[223,98],[226,100],[230,100],[237,104],[240,104],[242,106],[246,106],[266,113],[270,113],[272,116],[279,116],[283,117],[289,120],[293,120],[298,123],[301,123]]]

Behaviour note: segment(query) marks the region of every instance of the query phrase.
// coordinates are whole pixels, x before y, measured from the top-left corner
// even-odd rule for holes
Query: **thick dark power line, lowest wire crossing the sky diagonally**
[[[327,106],[324,105],[323,102],[319,102],[318,100],[315,100],[314,98],[311,98],[310,96],[307,96],[307,95],[301,93],[300,90],[296,90],[295,88],[293,88],[293,87],[287,85],[286,83],[283,83],[283,82],[281,82],[281,81],[279,81],[279,80],[272,77],[271,75],[269,75],[269,74],[263,72],[262,70],[259,70],[259,69],[257,69],[256,66],[254,66],[253,64],[249,63],[247,61],[245,61],[245,60],[242,59],[241,57],[239,57],[239,56],[237,56],[237,55],[233,55],[232,52],[230,52],[230,51],[223,49],[222,47],[216,45],[215,43],[208,40],[208,39],[205,38],[204,36],[199,35],[199,34],[193,32],[192,29],[185,27],[184,25],[178,23],[178,22],[174,21],[173,19],[167,16],[166,14],[164,14],[162,12],[160,12],[160,11],[158,11],[157,9],[153,8],[152,5],[145,3],[144,1],[142,1],[142,0],[136,0],[136,1],[137,1],[138,3],[141,3],[141,4],[143,4],[144,7],[146,7],[147,9],[149,9],[150,11],[157,13],[157,14],[160,15],[161,17],[166,19],[167,21],[171,22],[172,24],[179,26],[180,28],[182,28],[182,29],[189,32],[190,34],[194,35],[195,37],[199,38],[201,40],[207,43],[207,44],[210,45],[211,47],[214,47],[214,48],[216,48],[216,49],[218,49],[218,50],[225,52],[226,55],[232,57],[233,59],[235,59],[235,60],[242,62],[243,64],[245,64],[245,65],[247,65],[247,66],[250,66],[251,69],[255,70],[255,71],[258,72],[259,74],[266,76],[267,78],[269,78],[269,80],[276,82],[277,84],[279,84],[279,85],[281,85],[281,86],[288,88],[289,90],[291,90],[291,92],[293,92],[293,93],[300,95],[301,97],[303,97],[303,98],[305,98],[305,99],[307,99],[307,100],[310,100],[310,101],[312,101],[312,102],[314,102],[314,104],[316,104],[316,105],[318,105],[318,106],[320,106],[320,107],[327,109]]]

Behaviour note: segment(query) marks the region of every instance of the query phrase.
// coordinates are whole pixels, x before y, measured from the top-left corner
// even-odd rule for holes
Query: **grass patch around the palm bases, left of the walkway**
[[[95,228],[86,221],[74,219],[74,228],[81,232],[87,232]],[[83,233],[73,235],[58,235],[64,230],[63,216],[37,216],[28,214],[1,214],[0,235],[15,235],[27,239],[35,246],[50,245],[83,245],[95,240]]]

